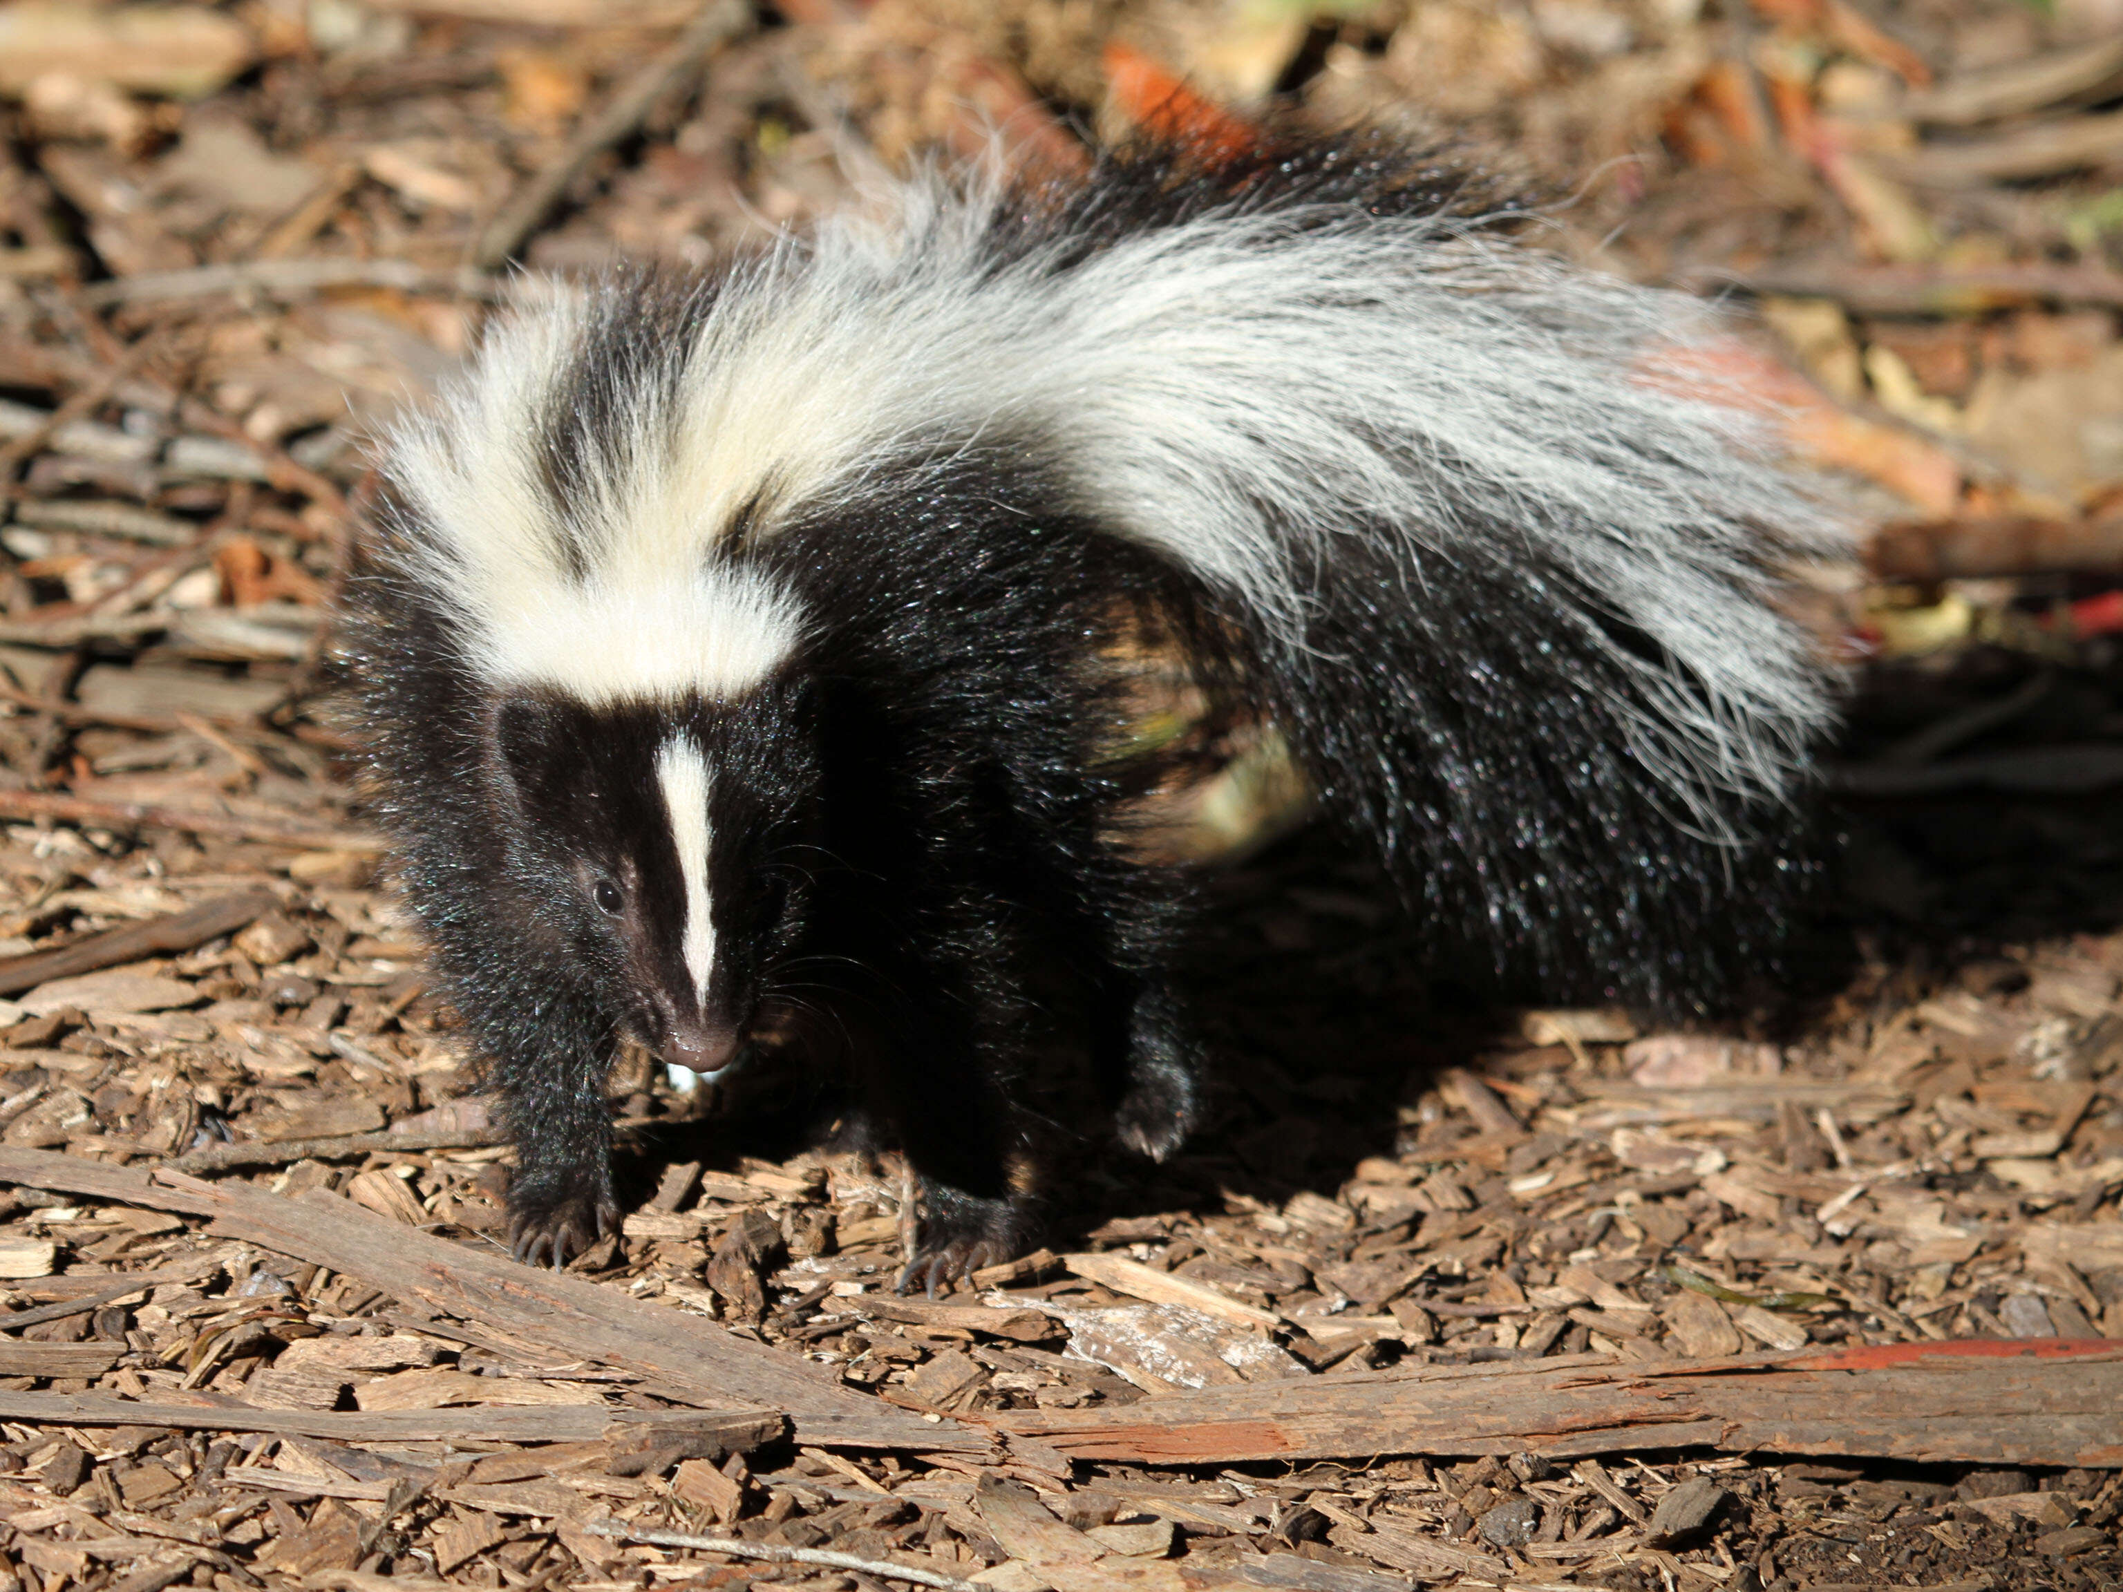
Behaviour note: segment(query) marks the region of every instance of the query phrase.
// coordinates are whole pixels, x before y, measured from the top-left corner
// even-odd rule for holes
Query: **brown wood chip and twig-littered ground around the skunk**
[[[1270,11],[0,6],[0,1592],[2123,1586],[2123,53]],[[495,263],[1066,168],[1115,59],[1605,161],[1567,246],[1758,291],[1887,524],[1826,928],[1722,1029],[1529,1010],[1299,836],[1212,881],[1212,1125],[1051,1248],[902,1299],[830,1095],[631,1057],[624,1233],[516,1267],[333,715],[363,437]]]

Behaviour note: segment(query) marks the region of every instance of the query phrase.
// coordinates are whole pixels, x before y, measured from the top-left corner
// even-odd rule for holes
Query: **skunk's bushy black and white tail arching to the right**
[[[1845,531],[1718,386],[1715,316],[1448,187],[1376,144],[1117,157],[1008,219],[1072,333],[1059,456],[1216,594],[1412,902],[1556,996],[1690,1004],[1807,872],[1834,686],[1775,565]]]

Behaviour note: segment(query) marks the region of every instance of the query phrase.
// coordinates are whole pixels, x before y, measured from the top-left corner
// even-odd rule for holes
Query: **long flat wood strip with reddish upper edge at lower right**
[[[2013,1339],[1609,1369],[1425,1367],[989,1420],[1070,1458],[1112,1465],[1715,1448],[2123,1469],[2117,1409],[2123,1342]]]

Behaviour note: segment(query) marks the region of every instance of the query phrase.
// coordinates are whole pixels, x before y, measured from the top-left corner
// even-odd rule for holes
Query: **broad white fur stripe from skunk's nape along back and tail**
[[[737,694],[807,616],[779,582],[707,563],[722,537],[771,541],[807,509],[864,524],[879,475],[919,484],[911,458],[1030,437],[1087,516],[1291,641],[1297,571],[1335,537],[1365,537],[1410,603],[1437,563],[1533,548],[1567,575],[1541,626],[1637,675],[1635,749],[1701,821],[1724,824],[1730,792],[1788,788],[1832,703],[1800,628],[1756,599],[1764,526],[1830,558],[1849,533],[1768,456],[1709,310],[1465,219],[1342,204],[1233,197],[1008,259],[994,233],[1021,204],[917,178],[883,223],[841,217],[737,267],[675,384],[639,354],[609,374],[624,403],[601,425],[631,446],[584,450],[563,503],[537,439],[597,306],[497,329],[473,378],[395,435],[422,573],[463,607],[471,667],[588,703]],[[1609,620],[1667,656],[1603,641]]]

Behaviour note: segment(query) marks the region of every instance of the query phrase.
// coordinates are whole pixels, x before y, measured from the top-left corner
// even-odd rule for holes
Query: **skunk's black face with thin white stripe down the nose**
[[[713,1076],[773,1015],[802,940],[817,834],[807,681],[724,700],[582,703],[518,690],[493,711],[510,870],[628,1038]]]

